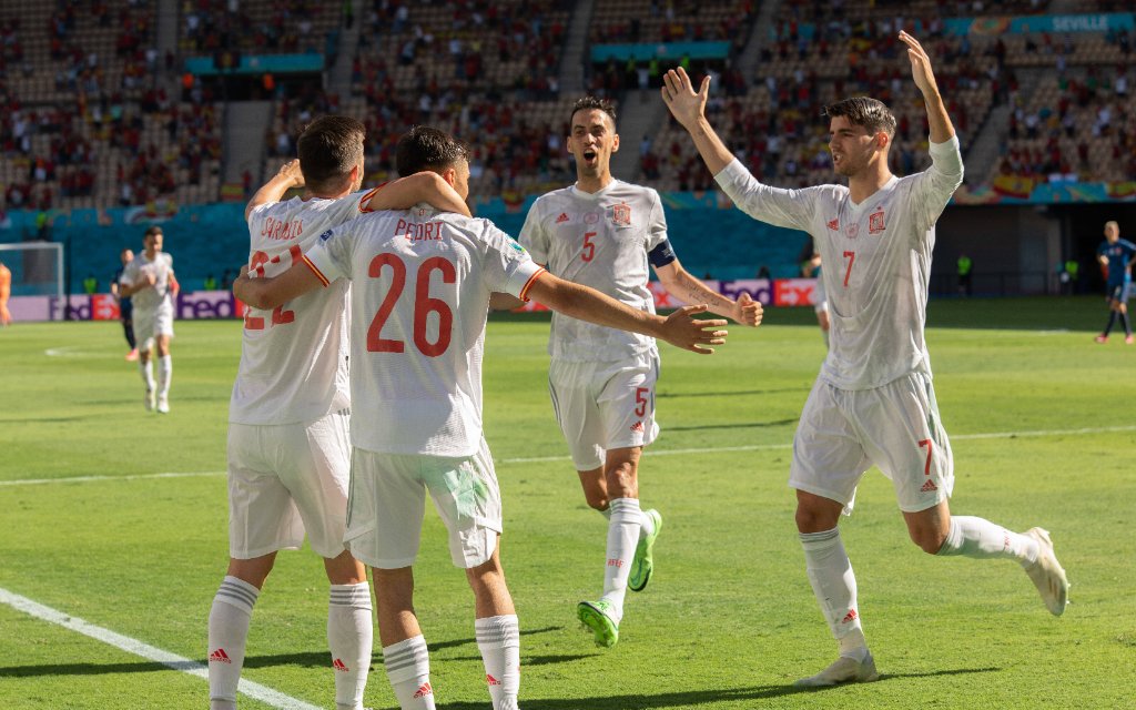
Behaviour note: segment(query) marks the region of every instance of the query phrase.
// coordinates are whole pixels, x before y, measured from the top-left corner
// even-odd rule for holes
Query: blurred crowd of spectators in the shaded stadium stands
[[[1126,2],[1079,6],[1131,11]],[[1136,175],[1128,31],[946,31],[950,17],[1045,14],[1046,0],[786,0],[776,11],[754,0],[610,0],[595,3],[575,43],[576,3],[568,0],[366,0],[359,17],[350,1],[185,0],[176,35],[165,42],[157,8],[158,0],[57,0],[0,9],[0,207],[218,200],[225,107],[216,84],[187,73],[183,60],[222,50],[342,50],[342,62],[329,56],[321,76],[262,77],[258,95],[273,102],[273,120],[264,164],[245,170],[245,192],[294,154],[312,117],[346,112],[368,127],[373,179],[390,176],[399,134],[432,124],[469,141],[475,195],[520,199],[573,179],[563,139],[578,97],[562,91],[565,76],[582,74],[585,90],[633,112],[658,100],[653,90],[674,64],[710,74],[715,125],[771,184],[833,179],[821,109],[861,93],[895,111],[892,168],[904,175],[926,167],[927,124],[900,28],[932,55],[964,152],[980,135],[996,136],[993,167],[968,175],[969,183]],[[755,30],[758,17],[768,24]],[[759,42],[743,57],[754,32]],[[713,41],[728,43],[724,58],[590,60],[599,44]],[[623,136],[638,164],[619,177],[660,190],[710,189],[684,132],[658,115],[661,125],[646,135]]]

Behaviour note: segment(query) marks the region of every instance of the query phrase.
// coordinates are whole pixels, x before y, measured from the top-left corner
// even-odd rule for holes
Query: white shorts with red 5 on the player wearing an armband
[[[600,468],[607,451],[645,446],[659,436],[658,381],[653,349],[616,362],[552,360],[549,395],[576,470]]]

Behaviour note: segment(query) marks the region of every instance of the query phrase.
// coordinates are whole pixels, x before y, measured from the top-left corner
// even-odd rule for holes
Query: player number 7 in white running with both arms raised
[[[953,461],[932,387],[924,323],[935,222],[962,182],[962,157],[927,52],[904,32],[899,39],[927,107],[932,157],[926,172],[902,178],[887,169],[895,117],[875,99],[846,99],[826,109],[833,165],[849,178],[847,187],[778,190],[754,179],[710,127],[709,82],[695,92],[678,69],[667,73],[662,87],[663,101],[738,208],[808,232],[825,264],[830,344],[793,442],[790,486],[796,488],[809,580],[840,658],[799,680],[803,686],[878,677],[837,528],[869,466],[891,478],[908,533],[925,552],[1016,560],[1054,615],[1064,611],[1069,590],[1049,533],[1035,527],[1019,534],[952,516],[947,504]]]

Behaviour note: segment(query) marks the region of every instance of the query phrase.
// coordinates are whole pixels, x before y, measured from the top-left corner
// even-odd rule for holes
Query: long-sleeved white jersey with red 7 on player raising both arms
[[[930,157],[926,172],[892,177],[860,204],[843,185],[762,185],[737,160],[716,176],[751,217],[812,235],[832,317],[820,377],[835,387],[868,390],[913,371],[930,375],[927,281],[935,220],[962,184],[958,139],[932,143]]]

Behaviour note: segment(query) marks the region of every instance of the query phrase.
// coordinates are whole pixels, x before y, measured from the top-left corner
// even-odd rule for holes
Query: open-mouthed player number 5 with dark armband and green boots
[[[673,296],[758,325],[761,304],[749,294],[735,302],[678,262],[659,193],[611,176],[611,153],[619,150],[611,103],[580,99],[569,128],[576,183],[542,195],[529,210],[520,243],[533,259],[561,278],[653,314],[650,264]],[[603,594],[579,602],[576,612],[596,644],[609,648],[619,640],[627,587],[640,592],[651,579],[662,527],[662,516],[642,510],[638,501],[640,457],[659,435],[659,351],[651,337],[553,314],[549,354],[549,393],[584,498],[608,518]]]

